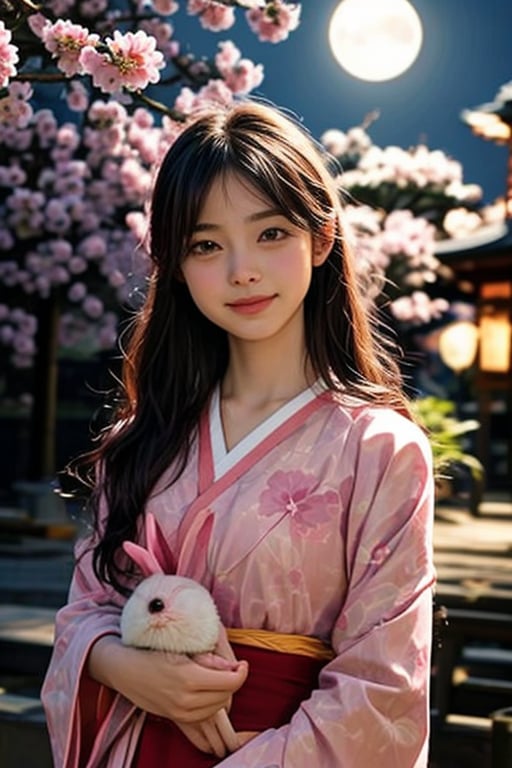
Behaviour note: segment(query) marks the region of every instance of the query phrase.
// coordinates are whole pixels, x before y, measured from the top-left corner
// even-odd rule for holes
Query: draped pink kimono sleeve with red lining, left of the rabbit
[[[120,634],[122,598],[94,575],[90,539],[80,540],[75,554],[68,603],[57,613],[53,653],[41,690],[54,764],[59,768],[85,765],[100,715],[110,712],[110,723],[113,719],[126,723],[133,711],[127,701],[119,707],[116,699],[121,697],[87,674],[93,644],[103,635]]]

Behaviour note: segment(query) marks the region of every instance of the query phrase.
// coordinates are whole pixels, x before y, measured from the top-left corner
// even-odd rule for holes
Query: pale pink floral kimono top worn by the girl
[[[426,768],[435,575],[421,430],[394,411],[307,390],[226,451],[216,395],[184,474],[165,485],[147,509],[177,573],[211,591],[226,627],[315,636],[335,652],[287,725],[218,765]],[[94,704],[87,655],[119,633],[122,605],[82,558],[42,691],[56,768],[131,764],[144,714],[120,695],[88,760],[80,743]]]

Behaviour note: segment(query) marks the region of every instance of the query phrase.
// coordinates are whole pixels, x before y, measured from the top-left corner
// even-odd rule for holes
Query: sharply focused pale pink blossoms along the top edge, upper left
[[[220,32],[235,23],[234,5],[246,8],[251,30],[263,42],[286,40],[299,25],[300,5],[285,0],[241,0],[233,4],[188,0],[187,12],[197,16],[205,29]],[[112,34],[103,36],[70,18],[59,18],[59,14],[76,10],[74,6],[70,0],[49,0],[45,13],[56,15],[55,21],[42,11],[28,16],[32,33],[66,77],[88,75],[103,93],[118,94],[123,89],[142,91],[158,83],[168,60],[178,56],[179,44],[172,40],[174,29],[168,20],[179,10],[177,2],[139,0],[140,15],[135,17],[137,28],[133,31],[113,28],[113,24],[122,24],[122,17],[118,9],[109,12],[107,2],[84,0],[79,4],[82,19],[95,19],[100,29],[112,27]],[[152,13],[148,13],[150,10]],[[3,22],[0,22],[0,61],[0,87],[5,87],[9,78],[17,74],[19,55]]]

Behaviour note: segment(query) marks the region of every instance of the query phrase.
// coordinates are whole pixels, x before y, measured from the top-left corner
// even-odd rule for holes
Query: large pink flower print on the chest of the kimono
[[[259,514],[265,517],[286,514],[292,530],[299,536],[309,536],[332,517],[337,505],[334,491],[315,493],[317,480],[300,470],[278,471],[269,478],[267,489],[260,496]]]

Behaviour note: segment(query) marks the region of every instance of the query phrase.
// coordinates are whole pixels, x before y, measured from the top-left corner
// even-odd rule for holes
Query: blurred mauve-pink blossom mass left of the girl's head
[[[34,312],[22,317],[0,305],[0,338],[19,367],[35,353],[38,300],[52,293],[63,307],[63,347],[115,342],[117,315],[108,307],[126,305],[147,272],[124,223],[150,184],[140,152],[144,112],[129,117],[116,102],[96,101],[83,134],[48,109],[24,128],[0,128],[10,152],[0,165],[0,281],[6,296]]]

